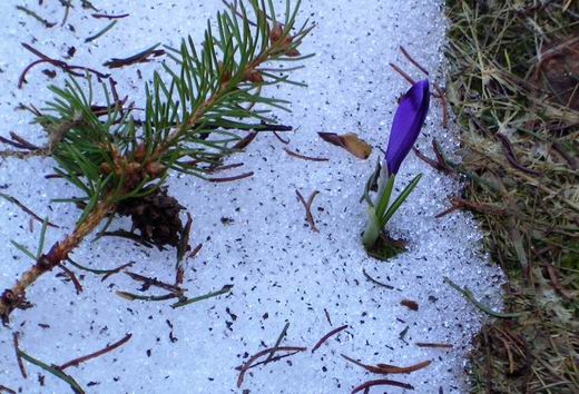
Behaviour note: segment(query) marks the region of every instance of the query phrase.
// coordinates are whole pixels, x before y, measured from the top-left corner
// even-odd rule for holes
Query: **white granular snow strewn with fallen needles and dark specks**
[[[13,130],[42,142],[30,115],[14,110],[19,102],[40,107],[50,98],[49,82],[66,77],[60,70],[50,80],[41,65],[17,88],[22,69],[36,60],[20,42],[55,58],[62,58],[70,46],[77,52],[71,63],[106,70],[111,57],[127,57],[156,42],[176,45],[181,36],[200,41],[208,18],[223,9],[218,0],[94,1],[101,11],[129,13],[106,35],[90,43],[84,40],[108,21],[90,17],[79,4],[70,11],[66,27],[46,29],[19,12],[17,4],[35,9],[50,21],[60,21],[58,1],[2,1],[0,12],[0,121],[1,135]],[[75,2],[76,3],[76,2]],[[485,316],[454,289],[444,276],[473,290],[478,299],[500,307],[501,274],[481,252],[481,229],[468,213],[455,211],[440,219],[434,216],[449,207],[448,197],[460,195],[461,184],[435,171],[414,155],[402,165],[396,189],[401,190],[416,173],[424,176],[409,201],[390,221],[393,235],[409,240],[409,252],[391,262],[367,257],[360,234],[365,224],[365,206],[359,199],[373,169],[377,147],[385,148],[396,98],[408,83],[389,62],[402,66],[414,78],[420,71],[404,60],[404,46],[431,72],[431,80],[444,83],[443,2],[433,0],[304,1],[301,20],[317,23],[302,52],[315,52],[297,78],[308,88],[284,86],[272,93],[292,100],[292,114],[278,112],[279,121],[298,128],[284,134],[290,149],[330,161],[305,161],[286,155],[272,134],[257,136],[247,151],[232,157],[244,166],[224,175],[254,171],[236,183],[209,184],[192,177],[173,177],[169,193],[194,216],[192,243],[203,249],[189,262],[186,273],[188,294],[202,295],[232,284],[229,295],[173,309],[166,303],[128,302],[116,290],[137,293],[138,284],[119,274],[101,278],[77,272],[85,292],[75,293],[70,283],[53,274],[42,277],[29,292],[33,308],[17,311],[9,328],[0,329],[0,384],[26,393],[65,393],[62,381],[32,364],[22,378],[12,347],[12,333],[20,333],[20,347],[47,363],[62,364],[104,347],[131,333],[122,347],[72,367],[67,372],[88,393],[228,393],[236,388],[235,367],[248,356],[273,346],[290,323],[285,346],[312,346],[327,332],[347,324],[314,354],[310,351],[251,370],[242,388],[252,393],[349,393],[376,375],[347,363],[345,354],[366,364],[406,366],[425,359],[432,364],[409,375],[390,378],[408,382],[416,393],[465,393],[464,373],[470,341]],[[73,26],[73,30],[68,26]],[[144,78],[159,68],[155,61],[114,70],[121,95],[143,102]],[[440,102],[431,106],[419,147],[433,156],[435,137],[446,149],[458,148],[454,127],[441,126]],[[357,132],[375,149],[361,161],[344,150],[322,141],[317,131]],[[50,203],[70,197],[75,189],[59,180],[47,180],[51,160],[17,159],[0,164],[2,193],[17,197],[41,217],[61,228],[49,229],[47,245],[67,234],[79,211]],[[320,233],[307,225],[304,197],[320,190],[312,213]],[[40,226],[30,232],[29,216],[14,205],[0,200],[0,287],[11,286],[31,260],[10,245],[10,239],[36,249]],[[230,218],[225,224],[222,218]],[[127,220],[116,221],[126,228]],[[146,249],[128,240],[104,238],[85,242],[73,255],[95,268],[114,268],[129,260],[134,272],[173,282],[175,250]],[[363,269],[394,289],[369,282]],[[400,302],[410,298],[419,311]],[[332,325],[326,319],[331,317]],[[42,326],[40,326],[40,324]],[[46,326],[48,325],[48,326]],[[401,332],[408,327],[401,338]],[[452,349],[422,348],[416,342],[443,342]],[[40,386],[37,374],[46,376]],[[382,388],[382,387],[381,387]],[[383,390],[382,390],[383,391]],[[382,392],[374,388],[372,392]],[[403,392],[387,387],[389,392]]]

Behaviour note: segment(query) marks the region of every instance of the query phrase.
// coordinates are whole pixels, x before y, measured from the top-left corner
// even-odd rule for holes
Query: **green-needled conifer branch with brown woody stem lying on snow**
[[[56,173],[84,193],[75,201],[84,203],[85,208],[75,230],[39,255],[17,284],[3,292],[0,317],[4,323],[14,308],[27,305],[26,289],[65,264],[120,203],[155,191],[170,170],[204,178],[204,165],[219,162],[241,139],[227,129],[246,129],[247,121],[273,124],[268,111],[286,109],[287,101],[264,97],[262,88],[300,82],[264,71],[262,66],[307,58],[297,48],[313,27],[306,21],[294,29],[300,2],[294,8],[287,3],[283,24],[275,22],[272,0],[248,3],[248,9],[241,3],[238,10],[218,13],[218,35],[208,24],[200,51],[190,38],[179,49],[168,48],[177,70],[164,63],[168,81],[154,73],[151,86],[146,87],[141,127],[136,126],[131,108],[124,109],[106,85],[106,110],[96,114],[90,76],[85,79],[86,88],[77,79],[65,88],[51,87],[56,98],[36,121],[49,135],[47,148],[57,161]]]

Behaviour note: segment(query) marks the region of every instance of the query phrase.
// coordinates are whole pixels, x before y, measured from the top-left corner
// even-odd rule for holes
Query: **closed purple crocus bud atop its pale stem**
[[[395,175],[414,146],[429,111],[429,80],[415,82],[400,100],[386,149],[389,176]]]

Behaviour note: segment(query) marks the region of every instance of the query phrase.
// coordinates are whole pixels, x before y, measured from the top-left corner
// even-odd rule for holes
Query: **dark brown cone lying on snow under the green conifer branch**
[[[121,203],[117,213],[130,216],[133,230],[138,229],[143,240],[161,248],[179,245],[183,233],[179,213],[183,209],[175,198],[167,195],[167,188],[158,188],[144,197]]]

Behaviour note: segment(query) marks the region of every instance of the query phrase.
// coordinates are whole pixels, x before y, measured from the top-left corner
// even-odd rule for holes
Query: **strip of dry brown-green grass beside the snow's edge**
[[[446,6],[465,198],[500,208],[485,246],[523,312],[475,338],[472,392],[579,393],[579,2]]]

